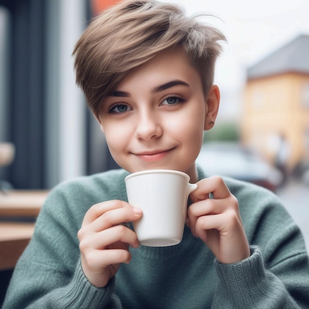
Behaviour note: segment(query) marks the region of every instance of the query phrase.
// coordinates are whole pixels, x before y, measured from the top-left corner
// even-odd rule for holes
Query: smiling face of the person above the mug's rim
[[[217,107],[210,102],[215,96]],[[219,91],[215,96],[204,94],[181,48],[160,53],[130,72],[98,116],[117,164],[131,173],[178,170],[197,181],[194,161],[207,121],[217,115]]]

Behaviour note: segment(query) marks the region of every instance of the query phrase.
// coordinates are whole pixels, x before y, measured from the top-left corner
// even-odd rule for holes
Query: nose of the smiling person
[[[161,136],[162,132],[159,116],[154,111],[143,111],[140,113],[136,123],[136,138],[150,140]]]

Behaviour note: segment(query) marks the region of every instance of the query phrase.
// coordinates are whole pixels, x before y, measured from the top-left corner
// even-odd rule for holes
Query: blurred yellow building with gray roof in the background
[[[291,169],[309,161],[309,36],[248,69],[242,120],[242,141],[271,162],[280,136],[289,145]]]

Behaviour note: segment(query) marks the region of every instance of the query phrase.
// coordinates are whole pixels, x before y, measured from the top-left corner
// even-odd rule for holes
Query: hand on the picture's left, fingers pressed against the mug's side
[[[86,212],[77,237],[82,270],[94,286],[106,286],[120,264],[131,261],[129,246],[137,248],[140,243],[122,223],[141,216],[140,208],[120,200],[95,204]]]

